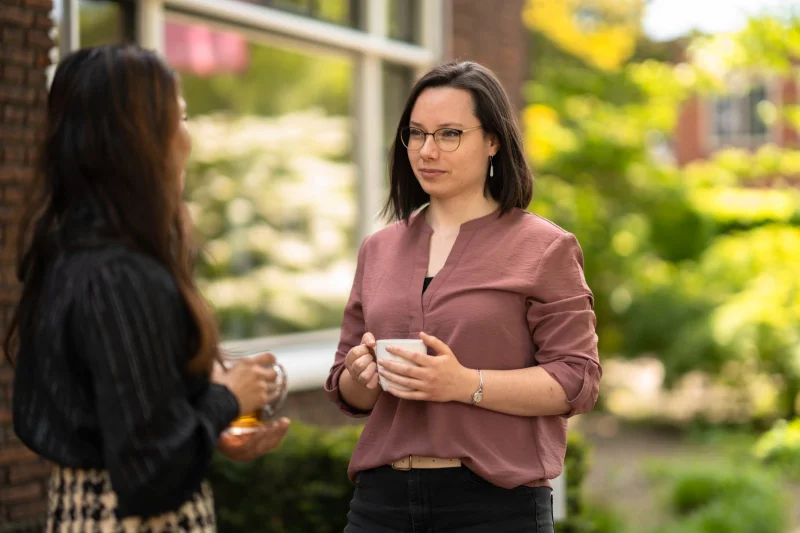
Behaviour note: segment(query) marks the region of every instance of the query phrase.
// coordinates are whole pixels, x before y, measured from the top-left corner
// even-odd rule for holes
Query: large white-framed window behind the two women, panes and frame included
[[[396,121],[442,58],[444,0],[57,2],[62,53],[135,40],[180,73],[198,278],[223,338],[320,387],[358,245],[383,225]],[[84,30],[98,14],[107,36]]]

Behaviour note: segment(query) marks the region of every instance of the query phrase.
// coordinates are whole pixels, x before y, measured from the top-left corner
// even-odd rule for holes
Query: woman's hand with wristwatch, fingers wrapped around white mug
[[[412,352],[403,348],[387,348],[389,353],[408,359],[419,366],[383,359],[378,361],[378,372],[381,376],[393,383],[413,389],[402,391],[389,386],[386,392],[404,400],[470,402],[472,393],[478,389],[480,383],[478,372],[462,366],[450,347],[436,337],[420,333],[420,338],[436,355]]]

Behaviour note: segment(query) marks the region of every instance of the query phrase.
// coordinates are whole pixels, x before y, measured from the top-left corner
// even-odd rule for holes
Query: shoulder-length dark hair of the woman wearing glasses
[[[513,106],[491,70],[472,61],[462,61],[434,68],[411,89],[389,151],[389,198],[382,216],[408,221],[416,209],[430,201],[430,196],[414,176],[408,153],[400,141],[400,130],[408,126],[419,95],[432,87],[469,91],[474,103],[473,112],[483,126],[484,135],[494,135],[500,143],[500,150],[493,158],[494,176],[486,180],[485,193],[500,204],[501,213],[514,207],[527,209],[533,198],[533,174],[525,160],[522,134]]]

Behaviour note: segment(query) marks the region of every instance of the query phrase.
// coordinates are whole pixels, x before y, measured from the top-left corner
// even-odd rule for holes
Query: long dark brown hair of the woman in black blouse
[[[173,139],[181,112],[176,75],[137,46],[78,50],[58,65],[47,102],[39,165],[17,242],[22,295],[6,334],[13,362],[31,331],[44,273],[65,222],[87,205],[112,237],[162,264],[194,319],[190,372],[210,372],[219,333],[192,275],[189,218],[181,200]]]

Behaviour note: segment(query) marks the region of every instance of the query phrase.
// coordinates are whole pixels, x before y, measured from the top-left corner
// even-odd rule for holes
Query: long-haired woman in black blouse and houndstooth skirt
[[[55,73],[5,343],[15,431],[55,465],[47,531],[215,531],[212,453],[275,379],[270,354],[216,363],[181,200],[184,107],[137,47],[79,50]],[[221,447],[253,458],[287,427]]]

